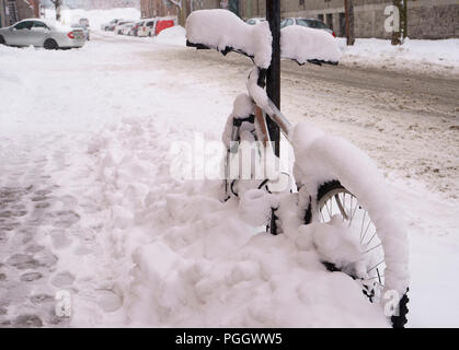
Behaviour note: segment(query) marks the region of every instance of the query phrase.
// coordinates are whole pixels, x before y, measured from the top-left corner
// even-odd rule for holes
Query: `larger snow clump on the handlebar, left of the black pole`
[[[194,11],[186,20],[186,38],[219,51],[241,50],[252,56],[260,68],[271,65],[273,36],[266,21],[249,25],[228,10]]]

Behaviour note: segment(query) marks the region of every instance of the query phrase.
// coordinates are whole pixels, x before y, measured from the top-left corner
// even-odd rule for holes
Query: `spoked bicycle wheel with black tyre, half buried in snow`
[[[330,270],[341,270],[355,280],[359,280],[364,293],[372,302],[381,296],[385,287],[385,252],[377,235],[368,211],[359,203],[358,198],[344,188],[338,180],[328,182],[319,187],[317,196],[317,219],[329,223],[338,215],[351,232],[362,252],[359,261],[347,261],[336,267],[324,261]],[[357,264],[358,262],[358,264]]]

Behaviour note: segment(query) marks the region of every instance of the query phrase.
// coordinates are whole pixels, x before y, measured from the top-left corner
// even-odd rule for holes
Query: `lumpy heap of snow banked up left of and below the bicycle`
[[[217,199],[219,180],[172,179],[171,140],[191,138],[157,118],[133,119],[90,148],[111,211],[101,238],[125,305],[121,319],[158,327],[388,326],[349,277],[326,271],[307,236],[254,230],[233,201]]]

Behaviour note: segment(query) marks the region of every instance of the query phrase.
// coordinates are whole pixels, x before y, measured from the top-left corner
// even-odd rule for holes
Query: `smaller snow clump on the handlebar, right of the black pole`
[[[301,25],[289,25],[280,31],[282,58],[299,63],[308,60],[338,62],[342,56],[337,40],[330,33]]]

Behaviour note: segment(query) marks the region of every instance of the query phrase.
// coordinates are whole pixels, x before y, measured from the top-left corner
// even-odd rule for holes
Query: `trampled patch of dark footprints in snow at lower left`
[[[76,277],[56,271],[58,257],[39,243],[49,236],[56,250],[71,246],[78,199],[35,186],[0,188],[0,327],[69,323],[55,315],[54,294],[72,288]]]

